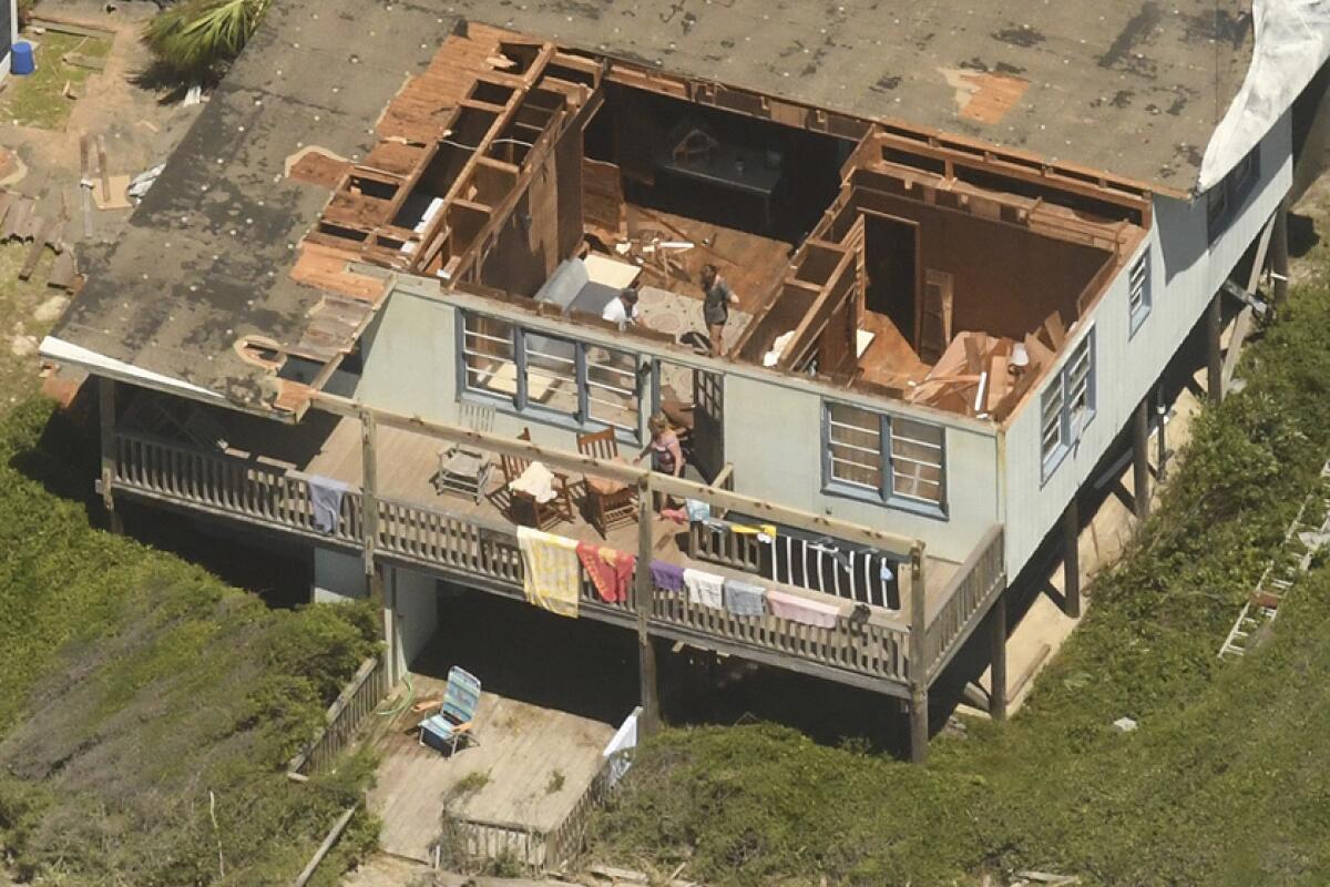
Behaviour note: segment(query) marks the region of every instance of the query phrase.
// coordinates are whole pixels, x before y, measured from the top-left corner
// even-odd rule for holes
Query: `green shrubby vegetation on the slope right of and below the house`
[[[1246,355],[1093,608],[1007,725],[914,767],[775,726],[678,729],[591,834],[710,884],[952,884],[1021,868],[1083,884],[1330,883],[1330,570],[1273,641],[1216,658],[1330,455],[1330,293]],[[1112,722],[1130,715],[1133,733]],[[644,862],[644,864],[646,864]],[[1005,882],[1003,882],[1005,883]]]

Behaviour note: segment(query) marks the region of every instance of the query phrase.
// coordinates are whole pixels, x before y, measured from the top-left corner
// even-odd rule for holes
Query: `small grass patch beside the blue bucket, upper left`
[[[81,37],[48,31],[41,36],[25,37],[37,44],[37,69],[25,77],[11,77],[0,93],[0,120],[11,120],[20,126],[63,129],[69,120],[73,101],[64,93],[69,84],[74,93],[94,73],[89,68],[64,61],[69,53],[105,60],[110,55],[110,37]]]

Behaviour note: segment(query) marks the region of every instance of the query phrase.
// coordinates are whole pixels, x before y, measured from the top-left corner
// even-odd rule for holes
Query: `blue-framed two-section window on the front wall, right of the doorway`
[[[944,508],[942,426],[827,403],[825,427],[829,491],[931,513]]]

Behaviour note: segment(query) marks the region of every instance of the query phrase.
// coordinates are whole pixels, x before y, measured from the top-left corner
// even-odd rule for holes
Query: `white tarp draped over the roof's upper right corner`
[[[1252,66],[1205,148],[1200,191],[1224,181],[1330,57],[1330,0],[1254,0],[1252,15]]]

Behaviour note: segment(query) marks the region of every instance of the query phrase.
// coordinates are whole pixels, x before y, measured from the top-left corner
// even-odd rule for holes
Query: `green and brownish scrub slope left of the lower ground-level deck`
[[[0,862],[35,883],[290,883],[370,762],[285,765],[374,650],[368,606],[273,610],[88,524],[76,435],[0,420]],[[82,481],[86,475],[78,475]],[[375,842],[356,817],[325,886]]]

